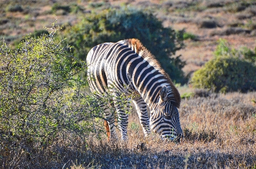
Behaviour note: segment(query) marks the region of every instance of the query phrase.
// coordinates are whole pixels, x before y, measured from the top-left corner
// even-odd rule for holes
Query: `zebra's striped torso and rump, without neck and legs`
[[[135,51],[125,45],[123,41],[104,43],[93,47],[86,58],[87,77],[91,92],[103,94],[106,93],[109,86],[114,86],[118,92],[124,92],[124,86],[131,85],[128,70],[125,69],[126,64],[135,57]],[[131,69],[133,68],[131,67]],[[129,87],[131,89],[129,91],[136,92],[133,85]]]

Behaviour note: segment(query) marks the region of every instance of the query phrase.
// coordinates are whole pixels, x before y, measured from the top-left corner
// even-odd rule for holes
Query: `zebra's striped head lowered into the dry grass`
[[[162,139],[180,141],[183,131],[179,122],[179,112],[174,102],[170,99],[171,91],[162,86],[159,94],[158,104],[150,115],[150,128],[153,132],[160,134]]]

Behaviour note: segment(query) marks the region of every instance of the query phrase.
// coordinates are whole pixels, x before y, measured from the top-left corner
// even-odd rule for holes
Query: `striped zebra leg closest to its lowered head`
[[[141,97],[132,99],[132,102],[134,103],[137,114],[139,115],[140,124],[143,129],[144,135],[147,137],[150,133],[150,128],[148,111],[146,110],[146,103]]]

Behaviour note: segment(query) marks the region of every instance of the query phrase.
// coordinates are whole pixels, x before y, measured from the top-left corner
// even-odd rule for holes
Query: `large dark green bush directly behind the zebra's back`
[[[121,8],[87,14],[79,23],[66,28],[64,36],[68,37],[66,42],[74,46],[74,54],[82,60],[93,46],[137,38],[156,56],[171,79],[185,82],[181,70],[185,63],[173,57],[183,47],[183,32],[163,28],[162,22],[151,12]]]

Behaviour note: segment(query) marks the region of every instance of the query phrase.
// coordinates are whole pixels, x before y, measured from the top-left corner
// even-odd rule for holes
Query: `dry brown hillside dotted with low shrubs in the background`
[[[136,7],[152,10],[165,27],[185,29],[186,47],[177,52],[190,74],[212,58],[217,40],[224,38],[238,49],[256,46],[256,1],[0,1],[0,38],[14,45],[28,33],[40,34],[54,20],[74,25],[85,13],[104,8]]]

